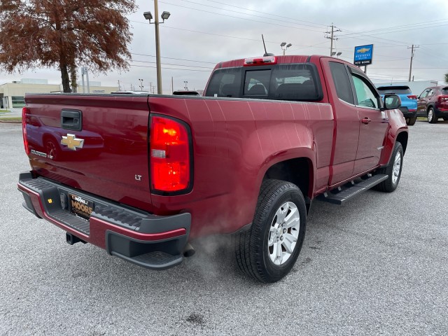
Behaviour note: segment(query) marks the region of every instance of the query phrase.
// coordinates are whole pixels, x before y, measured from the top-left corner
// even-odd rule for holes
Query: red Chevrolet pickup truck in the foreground
[[[300,253],[311,201],[395,190],[400,99],[323,56],[216,65],[204,97],[27,94],[24,207],[134,264],[166,269],[190,241],[233,234],[239,267],[273,282]]]

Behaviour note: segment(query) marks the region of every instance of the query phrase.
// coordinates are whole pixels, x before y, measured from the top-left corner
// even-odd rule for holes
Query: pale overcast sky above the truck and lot
[[[410,47],[414,51],[414,80],[438,80],[443,84],[448,72],[448,1],[365,1],[365,0],[167,0],[158,1],[159,15],[171,16],[160,25],[162,88],[165,94],[203,89],[217,62],[260,56],[264,53],[261,34],[268,52],[281,55],[281,42],[292,43],[287,55],[329,55],[326,31],[335,26],[334,51],[353,62],[356,45],[373,44],[373,64],[367,75],[375,82],[407,80]],[[133,34],[130,71],[90,73],[90,80],[102,85],[144,90],[156,83],[155,29],[143,13],[154,15],[154,2],[137,0],[139,8],[129,15]],[[88,66],[88,63],[85,65]],[[364,67],[362,67],[364,69]],[[0,69],[1,70],[1,69]],[[80,71],[78,71],[80,76]],[[46,78],[59,84],[57,69],[35,69],[25,73],[0,72],[0,84],[21,78]],[[414,92],[419,93],[419,92]]]

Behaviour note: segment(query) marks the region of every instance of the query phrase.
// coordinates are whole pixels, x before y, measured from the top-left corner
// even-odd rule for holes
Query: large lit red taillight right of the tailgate
[[[173,193],[191,186],[188,126],[172,118],[151,117],[151,191]]]

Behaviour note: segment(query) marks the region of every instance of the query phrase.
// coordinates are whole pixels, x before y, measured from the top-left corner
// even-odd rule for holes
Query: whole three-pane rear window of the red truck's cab
[[[277,64],[218,69],[205,96],[318,101],[323,91],[314,64]]]

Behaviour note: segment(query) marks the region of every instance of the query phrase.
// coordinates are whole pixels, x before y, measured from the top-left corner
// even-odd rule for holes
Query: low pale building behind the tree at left
[[[116,86],[101,86],[100,82],[90,82],[90,93],[111,93],[117,91]],[[0,85],[0,108],[11,109],[25,106],[27,93],[54,93],[62,92],[61,84],[48,84],[46,79],[23,78],[20,81]],[[78,87],[83,92],[83,87]],[[87,87],[85,87],[87,92]]]

